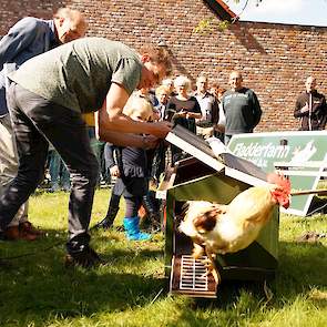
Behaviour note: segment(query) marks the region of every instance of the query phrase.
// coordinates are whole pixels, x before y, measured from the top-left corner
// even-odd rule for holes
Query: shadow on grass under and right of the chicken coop
[[[327,307],[327,249],[321,243],[280,242],[279,264],[276,278],[265,282],[223,282],[217,299],[195,299],[194,308],[218,307],[228,309],[239,302],[242,295],[251,294],[253,309],[260,305],[284,308],[298,296],[311,302],[317,308]],[[324,289],[325,292],[319,292]],[[267,295],[272,298],[267,298]]]

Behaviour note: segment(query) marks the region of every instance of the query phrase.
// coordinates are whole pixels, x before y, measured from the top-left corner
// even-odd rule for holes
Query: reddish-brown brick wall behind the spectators
[[[0,35],[20,18],[50,18],[60,6],[84,12],[89,35],[120,40],[135,49],[164,39],[175,74],[195,80],[206,72],[212,82],[227,88],[231,70],[241,70],[244,84],[255,90],[264,111],[257,131],[297,129],[294,103],[307,75],[314,74],[318,90],[327,94],[327,28],[238,22],[219,31],[219,20],[202,0],[1,0]],[[207,18],[213,31],[194,33],[198,21]]]

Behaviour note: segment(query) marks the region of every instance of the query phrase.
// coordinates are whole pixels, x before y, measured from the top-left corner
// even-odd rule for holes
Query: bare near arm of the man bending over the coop
[[[157,137],[165,137],[171,131],[171,124],[167,122],[145,123],[133,121],[122,113],[122,110],[130,98],[126,90],[116,83],[112,83],[106,94],[103,106],[98,112],[96,132],[100,140],[105,140],[109,132],[115,131],[122,133],[145,133]],[[113,134],[111,134],[113,135]],[[131,136],[126,136],[127,139]],[[109,142],[111,142],[109,140]],[[114,143],[114,142],[112,142]]]

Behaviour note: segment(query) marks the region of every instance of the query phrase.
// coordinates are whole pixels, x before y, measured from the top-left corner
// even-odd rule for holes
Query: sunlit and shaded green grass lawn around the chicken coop
[[[109,192],[96,192],[91,225],[105,214]],[[68,196],[31,198],[30,219],[45,237],[0,242],[0,257],[9,258],[0,264],[0,326],[327,326],[327,238],[296,242],[308,231],[327,232],[327,215],[280,216],[272,299],[256,285],[226,285],[217,300],[201,302],[164,290],[162,234],[131,243],[123,233],[94,231],[92,246],[108,265],[64,268]]]

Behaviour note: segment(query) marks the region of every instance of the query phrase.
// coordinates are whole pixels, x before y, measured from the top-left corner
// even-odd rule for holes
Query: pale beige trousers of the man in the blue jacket
[[[18,153],[10,114],[0,117],[0,196],[18,172]],[[28,221],[28,201],[23,203],[9,226]]]

